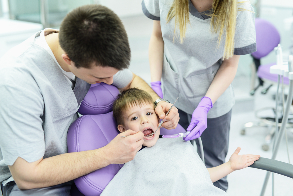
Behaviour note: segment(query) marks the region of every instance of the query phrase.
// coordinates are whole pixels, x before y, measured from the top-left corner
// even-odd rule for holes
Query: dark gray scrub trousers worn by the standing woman
[[[192,115],[187,114],[180,109],[178,109],[178,113],[180,116],[179,124],[187,129]],[[207,168],[216,167],[225,163],[225,157],[228,152],[231,113],[232,110],[217,118],[207,118],[207,129],[200,136],[202,139],[205,165]],[[197,153],[201,156],[198,140],[195,139],[195,142],[197,145]],[[213,184],[226,191],[228,189],[227,176]]]

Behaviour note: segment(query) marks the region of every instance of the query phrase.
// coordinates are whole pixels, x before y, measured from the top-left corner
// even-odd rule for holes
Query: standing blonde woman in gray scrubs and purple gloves
[[[153,90],[170,102],[179,97],[179,124],[191,131],[185,140],[201,136],[206,166],[221,165],[228,150],[235,103],[231,82],[239,55],[256,51],[251,5],[237,0],[143,0],[142,10],[154,20],[149,42]],[[228,188],[226,178],[214,185]]]

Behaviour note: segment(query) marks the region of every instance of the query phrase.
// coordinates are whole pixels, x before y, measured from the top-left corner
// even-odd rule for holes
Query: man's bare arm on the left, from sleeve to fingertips
[[[41,158],[32,163],[18,157],[14,164],[8,167],[20,189],[58,185],[107,165],[132,160],[142,148],[144,134],[141,131],[126,132],[123,134],[130,136],[120,138],[119,134],[103,148]]]

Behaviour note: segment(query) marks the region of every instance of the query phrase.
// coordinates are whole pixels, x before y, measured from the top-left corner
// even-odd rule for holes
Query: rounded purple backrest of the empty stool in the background
[[[251,55],[260,59],[267,56],[280,43],[280,34],[269,21],[255,18],[256,52]]]

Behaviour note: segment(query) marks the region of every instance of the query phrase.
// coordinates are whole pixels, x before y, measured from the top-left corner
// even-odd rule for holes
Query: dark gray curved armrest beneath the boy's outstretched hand
[[[282,161],[260,157],[257,161],[248,167],[266,170],[293,178],[293,165],[284,163]]]

